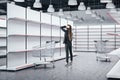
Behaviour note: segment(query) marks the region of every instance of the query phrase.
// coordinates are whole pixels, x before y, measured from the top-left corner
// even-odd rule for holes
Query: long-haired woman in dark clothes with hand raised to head
[[[73,61],[73,54],[72,54],[72,27],[71,25],[62,26],[61,29],[65,32],[64,34],[64,41],[65,50],[66,50],[66,63],[69,63],[69,54],[71,63]]]

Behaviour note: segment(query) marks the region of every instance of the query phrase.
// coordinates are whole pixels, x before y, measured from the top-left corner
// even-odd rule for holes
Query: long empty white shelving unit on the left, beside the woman
[[[20,14],[16,14],[16,12]],[[34,46],[43,46],[46,41],[61,41],[55,47],[54,59],[65,58],[63,38],[64,33],[60,26],[73,22],[54,16],[23,8],[14,4],[7,4],[7,65],[1,66],[1,70],[19,70],[33,66],[34,63],[44,62],[40,57],[40,50]],[[60,51],[64,52],[60,52]],[[61,54],[62,53],[62,54]]]

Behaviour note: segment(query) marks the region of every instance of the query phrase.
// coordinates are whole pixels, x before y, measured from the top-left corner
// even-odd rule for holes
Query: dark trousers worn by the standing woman
[[[73,54],[72,54],[72,43],[65,44],[65,50],[66,50],[66,62],[69,62],[69,54],[70,54],[70,60],[73,61]]]

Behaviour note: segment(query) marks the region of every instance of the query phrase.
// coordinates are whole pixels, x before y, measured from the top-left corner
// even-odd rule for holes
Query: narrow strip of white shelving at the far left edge
[[[6,16],[0,18],[0,57],[6,56]]]

